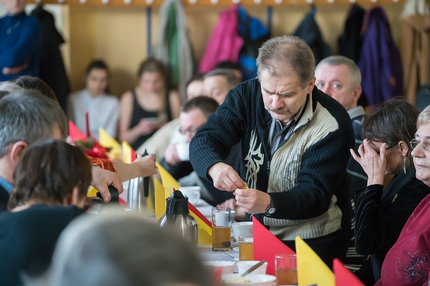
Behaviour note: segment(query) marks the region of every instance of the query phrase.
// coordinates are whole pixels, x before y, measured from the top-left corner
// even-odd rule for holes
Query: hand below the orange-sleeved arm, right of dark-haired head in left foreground
[[[123,184],[121,183],[121,178],[117,173],[92,166],[91,175],[91,186],[93,186],[100,192],[105,202],[111,201],[111,193],[109,192],[109,186],[114,186],[115,188],[117,188],[118,193],[120,194],[124,191]]]

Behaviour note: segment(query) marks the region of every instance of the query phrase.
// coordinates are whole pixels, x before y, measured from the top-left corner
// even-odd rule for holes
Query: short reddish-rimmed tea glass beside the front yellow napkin
[[[275,275],[278,285],[298,285],[297,256],[295,254],[275,255]]]

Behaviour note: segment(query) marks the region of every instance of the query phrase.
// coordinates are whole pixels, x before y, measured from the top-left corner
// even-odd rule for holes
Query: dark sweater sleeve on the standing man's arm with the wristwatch
[[[352,128],[341,129],[330,132],[306,150],[297,176],[298,184],[289,191],[271,193],[276,203],[276,211],[271,218],[315,218],[329,209],[333,195],[338,195],[337,191],[349,192],[349,185],[343,178],[352,143]],[[342,195],[350,197],[348,193]]]

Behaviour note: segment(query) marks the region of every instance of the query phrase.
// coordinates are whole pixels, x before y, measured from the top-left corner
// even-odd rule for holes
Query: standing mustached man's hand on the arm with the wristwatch
[[[236,189],[236,203],[248,213],[265,213],[270,205],[270,195],[256,189]]]

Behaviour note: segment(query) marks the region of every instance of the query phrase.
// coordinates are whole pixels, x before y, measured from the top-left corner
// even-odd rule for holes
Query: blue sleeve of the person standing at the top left
[[[26,19],[18,41],[0,53],[0,68],[25,63],[42,42],[42,28],[34,18]]]

